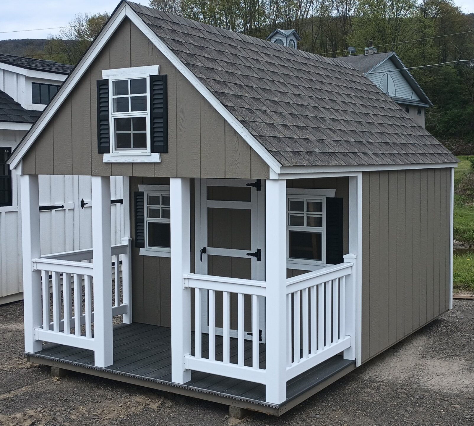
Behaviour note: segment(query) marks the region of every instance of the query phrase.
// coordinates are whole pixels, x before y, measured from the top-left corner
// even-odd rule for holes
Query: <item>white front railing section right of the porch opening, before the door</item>
[[[208,275],[184,275],[184,287],[195,289],[195,351],[194,355],[186,354],[185,368],[218,374],[225,377],[265,383],[265,370],[260,368],[259,351],[259,297],[265,296],[264,281],[239,278],[213,277]],[[216,293],[222,293],[222,309],[216,309]],[[237,358],[231,357],[230,299],[237,296]],[[252,351],[246,361],[245,332],[245,296],[251,296],[251,345]],[[247,298],[248,298],[247,296]],[[205,301],[207,303],[205,303]],[[206,306],[204,306],[204,304]],[[203,309],[208,309],[203,324]],[[222,352],[216,353],[216,316],[222,312]],[[207,326],[207,327],[206,327]],[[203,351],[202,333],[206,329],[209,339],[209,350]],[[219,330],[220,333],[220,330]],[[235,342],[235,341],[234,341]],[[217,356],[219,355],[219,360]],[[222,357],[222,360],[220,358]],[[247,364],[247,365],[246,365]],[[248,365],[250,364],[250,365]]]

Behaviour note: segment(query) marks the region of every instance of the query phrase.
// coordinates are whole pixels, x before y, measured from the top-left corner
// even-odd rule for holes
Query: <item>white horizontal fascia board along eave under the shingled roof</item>
[[[425,168],[451,168],[457,163],[426,163],[426,164],[381,164],[372,166],[284,166],[278,176],[271,179],[300,179],[312,177],[356,176],[360,172],[386,170],[415,170]]]

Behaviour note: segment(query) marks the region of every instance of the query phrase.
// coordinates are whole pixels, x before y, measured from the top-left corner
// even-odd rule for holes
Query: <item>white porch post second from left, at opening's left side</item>
[[[112,237],[110,177],[92,176],[92,261],[94,275],[94,364],[114,362],[112,340]]]

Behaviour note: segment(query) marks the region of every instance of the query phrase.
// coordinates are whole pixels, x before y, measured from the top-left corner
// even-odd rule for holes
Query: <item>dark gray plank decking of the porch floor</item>
[[[207,335],[204,335],[202,340],[202,352],[204,355],[207,354],[208,349]],[[27,353],[27,356],[30,361],[37,363],[51,365],[51,362],[42,362],[42,360],[55,361],[55,366],[64,369],[79,370],[110,379],[127,381],[123,380],[123,376],[127,376],[129,378],[143,380],[147,382],[142,382],[144,386],[169,392],[183,394],[182,389],[187,389],[191,391],[191,393],[186,392],[186,395],[202,399],[217,400],[227,405],[240,405],[236,403],[240,401],[247,403],[244,404],[246,407],[249,407],[249,404],[251,404],[251,408],[269,414],[281,414],[281,408],[285,404],[301,397],[311,389],[319,387],[301,400],[309,398],[309,396],[316,393],[316,391],[332,383],[332,381],[346,374],[349,370],[352,370],[355,362],[344,360],[341,356],[335,356],[290,380],[287,384],[286,402],[276,406],[265,402],[265,386],[258,383],[229,379],[199,371],[193,371],[191,380],[184,385],[173,383],[171,381],[170,328],[138,323],[119,324],[114,326],[113,342],[114,363],[107,368],[98,368],[93,365],[94,355],[92,351],[53,343],[46,344],[41,352]],[[231,339],[231,362],[236,362],[237,360],[236,345],[237,339]],[[191,333],[191,346],[194,348],[194,333]],[[193,349],[191,353],[192,351]],[[265,345],[260,344],[261,367],[264,367],[264,355]],[[216,359],[219,359],[219,356],[222,360],[222,337],[220,336],[216,338]],[[246,361],[251,362],[251,358],[251,342],[247,341]],[[77,367],[81,368],[77,369]],[[100,374],[99,372],[111,373],[114,376]],[[338,374],[342,372],[344,372],[344,374]],[[321,386],[321,384],[333,376],[337,377],[334,377],[334,380],[326,383],[326,385]],[[149,382],[160,386],[151,386]],[[140,384],[136,381],[133,381],[133,383]],[[210,398],[210,396],[219,397],[219,399]],[[298,402],[301,402],[301,400]],[[278,413],[276,413],[275,410],[278,410]]]

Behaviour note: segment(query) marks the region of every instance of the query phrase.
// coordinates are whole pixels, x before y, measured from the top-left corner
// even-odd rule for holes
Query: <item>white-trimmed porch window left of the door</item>
[[[141,255],[170,256],[170,191],[167,185],[139,185],[145,195],[145,248]]]

